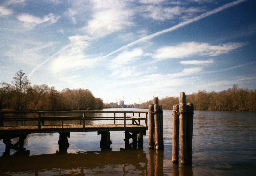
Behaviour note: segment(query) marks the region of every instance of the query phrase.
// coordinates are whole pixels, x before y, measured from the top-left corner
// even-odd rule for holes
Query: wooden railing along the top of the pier
[[[123,114],[122,116],[120,114]],[[141,114],[144,114],[141,117]],[[138,116],[135,116],[138,115]],[[66,121],[77,121],[78,125],[85,125],[88,121],[109,121],[113,124],[123,121],[126,128],[126,121],[132,121],[132,125],[141,125],[141,120],[145,120],[145,127],[148,126],[148,111],[2,111],[0,112],[1,126],[38,126],[38,132],[42,126],[51,124],[62,126],[71,125]],[[66,122],[66,123],[65,123]],[[101,122],[102,123],[102,122]],[[109,124],[109,123],[106,123]],[[119,123],[120,124],[120,123]],[[122,124],[122,123],[121,123]]]

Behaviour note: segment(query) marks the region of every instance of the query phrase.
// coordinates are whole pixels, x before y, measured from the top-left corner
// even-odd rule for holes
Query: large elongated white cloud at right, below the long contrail
[[[154,58],[184,58],[189,56],[218,56],[244,46],[246,43],[225,43],[210,45],[209,43],[184,42],[176,46],[159,48],[153,55]]]

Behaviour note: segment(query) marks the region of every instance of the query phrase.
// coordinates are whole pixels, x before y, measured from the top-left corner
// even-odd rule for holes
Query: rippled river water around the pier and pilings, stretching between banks
[[[195,111],[191,166],[172,164],[172,110],[163,121],[163,151],[148,149],[148,131],[136,150],[124,150],[124,132],[111,132],[111,151],[101,151],[97,132],[71,133],[67,154],[56,154],[58,133],[30,134],[25,154],[0,156],[0,175],[255,175],[256,112]]]

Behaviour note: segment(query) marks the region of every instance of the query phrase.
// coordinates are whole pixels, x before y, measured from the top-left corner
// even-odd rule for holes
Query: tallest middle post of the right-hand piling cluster
[[[180,161],[181,164],[185,164],[188,161],[187,156],[187,105],[186,95],[181,92],[179,95],[179,138],[180,138]]]

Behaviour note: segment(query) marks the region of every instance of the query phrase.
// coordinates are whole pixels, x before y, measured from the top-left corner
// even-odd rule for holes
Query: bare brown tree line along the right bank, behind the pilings
[[[237,84],[221,92],[199,90],[186,97],[187,102],[193,103],[195,110],[256,111],[256,89],[242,89]],[[172,109],[178,101],[178,97],[165,97],[159,100],[159,105],[162,105],[163,109]],[[152,100],[140,104],[139,108],[148,109],[150,104]]]

